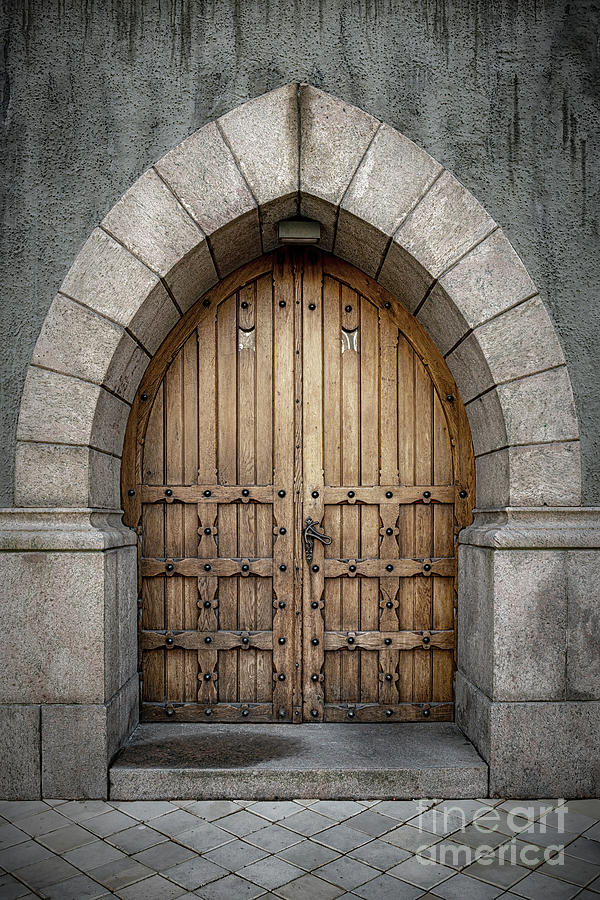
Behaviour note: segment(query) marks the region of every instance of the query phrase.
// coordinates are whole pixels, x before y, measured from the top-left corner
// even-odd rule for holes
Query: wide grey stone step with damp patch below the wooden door
[[[488,767],[453,723],[142,724],[113,761],[112,800],[487,797]]]

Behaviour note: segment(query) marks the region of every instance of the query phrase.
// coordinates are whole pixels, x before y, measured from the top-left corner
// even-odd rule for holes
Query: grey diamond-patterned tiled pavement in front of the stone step
[[[600,900],[600,800],[0,801],[0,898]]]

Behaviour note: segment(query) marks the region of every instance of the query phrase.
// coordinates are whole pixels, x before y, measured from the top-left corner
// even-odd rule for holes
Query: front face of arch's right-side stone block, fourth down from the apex
[[[536,293],[525,266],[500,229],[440,278],[440,289],[476,328]]]

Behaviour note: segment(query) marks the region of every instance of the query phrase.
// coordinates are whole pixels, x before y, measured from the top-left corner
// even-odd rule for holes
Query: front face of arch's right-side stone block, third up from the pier
[[[540,297],[508,310],[473,332],[496,384],[564,365],[554,326]]]

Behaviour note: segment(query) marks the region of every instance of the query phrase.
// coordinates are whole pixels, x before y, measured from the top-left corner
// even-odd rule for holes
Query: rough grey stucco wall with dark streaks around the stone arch
[[[296,80],[404,132],[503,226],[556,324],[600,503],[599,22],[585,0],[7,0],[0,503],[33,345],[92,228],[196,128]]]

